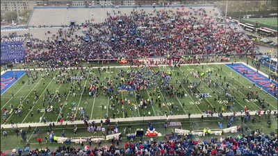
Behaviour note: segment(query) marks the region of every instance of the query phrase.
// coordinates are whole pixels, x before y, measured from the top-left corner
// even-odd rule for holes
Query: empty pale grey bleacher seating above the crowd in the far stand
[[[152,6],[144,6],[142,9],[146,12],[146,14],[149,14],[150,12],[153,12],[154,9],[157,11],[159,10],[173,10],[171,8],[164,8],[164,7],[156,7],[153,8]],[[179,6],[180,7],[180,6]],[[203,6],[184,6],[183,12],[186,12],[190,10],[190,8],[193,8],[195,10],[199,10],[199,8],[204,8]],[[205,6],[206,13],[208,16],[214,17],[220,17],[222,14],[218,8],[215,8],[214,6],[208,5]],[[120,13],[118,13],[120,11]],[[117,16],[117,15],[130,15],[131,12],[133,12],[133,7],[123,7],[123,8],[81,8],[81,7],[72,7],[72,8],[66,8],[66,7],[34,7],[32,15],[30,17],[28,26],[60,26],[60,25],[68,25],[70,24],[71,20],[76,20],[76,24],[85,23],[85,20],[92,20],[92,23],[98,23],[98,22],[104,22],[107,16],[107,12],[111,13],[111,17]],[[114,13],[115,12],[115,13]],[[155,16],[156,12],[153,12]],[[186,16],[187,18],[190,17],[190,15]],[[200,19],[200,18],[199,18]],[[223,21],[224,22],[224,21]]]

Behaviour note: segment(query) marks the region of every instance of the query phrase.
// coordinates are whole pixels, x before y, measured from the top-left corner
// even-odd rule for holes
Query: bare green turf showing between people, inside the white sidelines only
[[[195,94],[193,96],[190,93],[190,90],[188,89],[189,84],[183,84],[183,78],[186,78],[188,76],[189,82],[188,83],[193,83],[193,81],[200,81],[200,79],[195,79],[193,76],[190,76],[190,71],[200,71],[200,73],[204,72],[207,69],[211,69],[212,71],[215,70],[217,71],[218,68],[222,67],[222,71],[219,71],[218,74],[222,76],[222,80],[218,83],[218,87],[208,87],[206,83],[202,83],[202,86],[199,87],[198,89],[195,90],[195,93],[197,92],[200,93],[208,93],[211,95],[211,97],[204,98],[205,100],[199,101],[199,98],[196,97]],[[128,70],[128,67],[122,68],[124,71]],[[170,67],[166,67],[163,69],[163,67],[153,67],[152,70],[154,71],[165,71],[169,72],[171,71]],[[101,73],[101,77],[99,82],[104,82],[104,80],[113,80],[114,83],[119,84],[120,80],[115,80],[116,73],[119,71],[118,68],[113,69],[113,67],[108,70],[108,73],[106,71],[103,71]],[[179,72],[179,76],[177,76],[177,72]],[[183,74],[184,72],[184,74]],[[196,67],[196,66],[183,66],[181,69],[179,68],[174,68],[172,70],[173,76],[172,79],[170,80],[170,85],[174,85],[175,88],[177,89],[179,87],[179,82],[181,82],[181,89],[184,90],[185,94],[187,94],[187,97],[177,97],[174,96],[174,98],[170,97],[169,95],[166,96],[165,92],[162,92],[161,94],[161,103],[164,103],[165,105],[163,107],[158,107],[158,103],[154,103],[153,106],[148,105],[146,109],[141,110],[139,105],[139,101],[136,102],[136,97],[135,94],[133,96],[127,96],[127,92],[120,92],[119,94],[119,99],[127,98],[131,103],[134,103],[134,105],[137,105],[138,109],[134,112],[130,111],[131,104],[125,104],[124,105],[124,112],[121,112],[121,107],[122,105],[117,105],[117,101],[115,102],[115,109],[111,110],[109,107],[113,105],[112,101],[108,99],[103,94],[103,91],[99,92],[99,97],[94,98],[93,96],[88,95],[88,84],[89,80],[83,79],[81,82],[81,86],[87,86],[87,91],[83,92],[83,95],[79,95],[79,92],[76,92],[76,96],[72,96],[72,94],[68,94],[70,90],[70,85],[69,84],[56,84],[55,80],[51,80],[51,76],[47,76],[44,80],[42,80],[41,73],[39,72],[38,80],[35,81],[33,85],[27,86],[27,85],[22,85],[22,80],[25,80],[26,82],[28,81],[28,78],[26,75],[22,76],[17,83],[15,83],[12,87],[10,87],[2,96],[1,96],[1,108],[6,108],[10,110],[10,103],[13,103],[14,107],[19,107],[19,101],[20,98],[24,98],[24,107],[22,109],[22,116],[19,117],[19,114],[17,113],[11,113],[8,114],[6,117],[6,123],[10,123],[10,121],[13,121],[13,123],[37,123],[40,120],[40,116],[46,117],[49,121],[57,121],[59,112],[38,112],[38,109],[44,110],[44,107],[42,106],[43,104],[43,96],[46,94],[46,90],[49,89],[49,92],[55,92],[56,89],[59,89],[59,92],[61,94],[61,101],[60,103],[65,104],[65,98],[67,99],[67,106],[63,105],[62,106],[62,112],[64,116],[66,116],[67,113],[76,114],[76,120],[81,120],[80,112],[79,112],[79,107],[83,107],[85,110],[85,113],[88,114],[90,119],[104,119],[106,113],[108,114],[109,117],[113,117],[113,113],[116,113],[116,118],[123,118],[125,116],[125,113],[128,114],[129,117],[132,116],[132,113],[134,113],[134,117],[142,116],[142,114],[148,114],[149,112],[151,113],[151,116],[157,116],[158,113],[160,112],[170,112],[170,110],[173,111],[173,114],[201,114],[204,110],[208,110],[208,103],[211,105],[209,109],[212,110],[212,107],[216,108],[216,111],[219,112],[219,108],[224,107],[224,112],[240,112],[240,110],[244,110],[244,106],[246,105],[247,108],[249,108],[251,111],[259,110],[261,106],[259,105],[259,102],[255,99],[255,96],[252,97],[252,100],[250,101],[243,101],[243,98],[247,98],[247,87],[252,86],[252,83],[249,80],[246,80],[245,78],[242,78],[239,76],[238,78],[238,73],[234,73],[235,80],[232,80],[230,73],[233,72],[229,67],[226,67],[224,64],[212,64],[212,65],[204,65],[204,69],[202,69],[202,66]],[[58,73],[58,71],[51,71],[51,74]],[[74,70],[74,73],[77,74],[77,76],[81,76],[81,70]],[[98,74],[97,69],[92,69],[90,71],[90,76],[93,76],[95,73]],[[109,74],[111,73],[111,75]],[[126,76],[126,75],[125,75]],[[151,74],[149,74],[151,76]],[[221,83],[223,82],[224,85],[226,85],[227,82],[224,82],[223,78],[226,76],[227,81],[229,80],[231,82],[230,89],[231,90],[236,90],[236,88],[239,88],[239,92],[236,92],[236,100],[234,103],[236,103],[236,107],[232,108],[232,110],[226,110],[227,105],[232,105],[233,102],[228,102],[227,98],[224,94],[224,90],[221,87]],[[212,80],[214,81],[216,79],[215,74],[211,76]],[[218,78],[219,79],[219,78]],[[177,81],[179,81],[177,83]],[[44,83],[44,85],[43,85]],[[106,84],[106,83],[104,83]],[[74,82],[74,86],[76,85],[76,81]],[[242,89],[242,86],[245,85],[245,89]],[[214,101],[214,98],[218,98],[219,94],[219,89],[222,89],[222,94],[220,94],[220,100],[219,101]],[[33,90],[36,90],[39,95],[39,99],[35,100],[35,96],[33,94]],[[255,91],[259,91],[259,87],[254,89]],[[63,93],[67,92],[67,96],[63,97]],[[213,94],[213,91],[215,91],[215,95]],[[153,98],[155,99],[157,97],[157,93],[161,92],[160,87],[156,90]],[[12,93],[15,94],[15,97],[12,98]],[[144,98],[152,98],[149,96],[149,94],[153,94],[154,89],[149,88],[146,90],[142,90],[140,92],[140,95]],[[260,93],[261,98],[265,99],[265,102],[270,103],[270,109],[272,110],[277,110],[277,100],[273,98],[272,96],[267,95],[265,92]],[[54,97],[56,95],[54,94]],[[51,104],[54,105],[54,109],[56,110],[56,107],[60,107],[60,103],[55,103],[56,98],[49,98],[49,101],[51,101]],[[166,99],[166,101],[165,101]],[[28,100],[28,105],[26,104],[26,101]],[[33,101],[36,101],[36,104],[33,105]],[[85,104],[85,101],[88,101],[88,105]],[[71,103],[75,102],[76,107],[75,110],[72,110],[72,105]],[[54,104],[55,103],[55,104]],[[185,103],[185,107],[182,107],[182,104]],[[102,109],[102,105],[104,105],[104,109]],[[163,104],[162,104],[163,105]],[[173,105],[173,108],[172,108]],[[175,106],[179,107],[179,110],[176,109]],[[47,102],[44,105],[45,107],[49,108],[49,105]],[[32,109],[30,110],[30,107]],[[117,109],[120,111],[120,113],[117,113]],[[31,118],[31,113],[33,112],[34,116]],[[67,119],[69,121],[70,119]],[[3,124],[3,120],[1,121],[1,124]]]

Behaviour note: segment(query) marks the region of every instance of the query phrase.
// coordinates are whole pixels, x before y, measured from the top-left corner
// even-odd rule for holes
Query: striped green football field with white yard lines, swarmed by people
[[[239,65],[240,64],[235,64],[237,67]],[[144,67],[142,70],[145,73],[145,78],[149,78],[150,82],[146,89],[140,90],[141,100],[144,99],[147,101],[148,98],[154,99],[154,104],[147,103],[147,107],[140,107],[140,101],[136,101],[136,94],[134,91],[119,91],[119,101],[121,99],[125,101],[126,99],[123,109],[121,101],[119,104],[117,101],[113,103],[106,93],[104,93],[103,89],[99,90],[99,96],[89,95],[88,85],[90,85],[90,79],[94,76],[99,76],[99,86],[101,83],[103,83],[104,86],[107,86],[106,84],[110,81],[116,86],[120,84],[121,80],[124,82],[127,78],[127,74],[124,73],[124,77],[119,78],[117,73],[119,73],[120,69],[129,71],[130,66],[110,67],[109,69],[103,67],[101,75],[99,75],[99,69],[97,69],[97,67],[93,67],[92,69],[72,69],[72,71],[76,73],[76,79],[73,80],[73,86],[76,86],[76,84],[79,83],[78,78],[81,78],[84,71],[89,71],[90,73],[87,75],[87,78],[81,78],[81,94],[80,92],[76,92],[75,96],[73,96],[72,93],[69,93],[71,88],[70,83],[57,83],[57,78],[55,80],[54,78],[51,78],[51,76],[54,77],[60,74],[60,70],[58,69],[55,71],[50,70],[49,76],[45,76],[44,79],[42,79],[42,73],[44,73],[44,71],[42,72],[38,70],[38,79],[35,80],[33,84],[31,83],[31,80],[30,85],[27,83],[28,76],[25,73],[19,78],[19,80],[13,83],[6,92],[1,94],[1,109],[6,109],[7,111],[6,124],[10,124],[10,121],[13,121],[13,123],[38,123],[40,122],[40,117],[42,117],[42,119],[45,117],[47,121],[54,122],[59,119],[61,113],[63,113],[64,121],[70,121],[70,117],[66,117],[67,113],[69,113],[70,116],[75,114],[75,121],[80,121],[82,119],[81,108],[83,108],[84,114],[85,116],[88,116],[89,120],[105,119],[106,115],[113,118],[114,113],[116,119],[124,118],[126,115],[134,118],[143,115],[148,116],[149,114],[150,116],[158,116],[165,114],[165,112],[168,114],[172,112],[172,115],[202,114],[202,112],[208,112],[208,110],[213,110],[213,108],[215,108],[216,112],[222,112],[222,107],[224,107],[224,112],[240,112],[241,110],[244,111],[244,107],[246,106],[247,109],[253,112],[262,108],[259,101],[264,101],[262,105],[265,105],[265,109],[262,110],[267,109],[266,107],[268,103],[270,103],[269,109],[277,110],[277,98],[271,93],[267,94],[265,92],[268,91],[268,88],[263,87],[263,90],[260,91],[261,87],[258,87],[257,83],[256,86],[253,87],[252,79],[243,77],[243,74],[235,71],[236,69],[233,70],[232,67],[227,64],[221,63],[199,64],[198,66],[186,64],[181,66],[181,68],[158,66],[152,67],[151,70],[149,70],[149,67]],[[138,67],[132,67],[131,69],[138,71]],[[210,76],[206,73],[207,70],[212,71]],[[250,69],[247,68],[247,70]],[[152,76],[158,71],[160,73],[172,73],[169,82],[170,85],[174,86],[176,93],[182,93],[184,96],[177,96],[177,94],[172,96],[163,92],[163,88],[161,88],[161,80],[158,78],[158,81],[154,82],[152,79]],[[193,74],[190,74],[190,72],[193,73],[193,71],[204,73],[204,76],[201,78],[194,78]],[[217,73],[217,76],[215,73]],[[36,74],[33,73],[33,71],[29,73],[30,78],[31,76],[35,77],[35,75]],[[211,83],[209,82],[210,78]],[[195,87],[193,92],[191,92],[190,83],[199,83],[202,79],[206,79],[206,81],[203,81],[199,87]],[[22,84],[22,81],[25,81],[24,85]],[[218,85],[213,86],[214,82],[218,82]],[[228,82],[230,83],[229,94],[231,94],[231,96],[236,95],[236,98],[234,100],[231,99],[230,101],[224,92],[224,87],[227,88]],[[86,91],[84,91],[83,86],[87,87]],[[248,91],[248,87],[251,87],[254,92],[258,91],[259,98],[256,98],[256,95],[254,94],[250,96],[250,99],[247,99],[247,92],[250,92]],[[53,92],[53,96],[46,96],[47,89],[49,90],[49,93]],[[58,92],[56,92],[57,89]],[[35,98],[34,90],[37,92],[38,98]],[[64,92],[66,92],[65,96]],[[197,95],[198,93],[204,94],[205,97],[203,99],[199,98]],[[56,94],[60,94],[60,101],[56,98]],[[161,96],[161,107],[159,107],[158,102],[156,102],[158,96]],[[50,112],[50,105],[48,102],[44,103],[44,97],[54,106],[54,112]],[[20,101],[23,101],[23,106],[20,105]],[[74,105],[72,103],[74,103]],[[233,103],[235,103],[234,107]],[[11,111],[10,104],[13,104],[14,110],[22,107],[22,114],[19,114],[18,110]],[[113,105],[115,105],[114,108],[112,107]],[[134,106],[131,110],[132,105]],[[135,106],[137,109],[135,109]],[[227,106],[231,106],[231,109],[227,109]],[[47,108],[49,112],[44,112],[44,108]],[[38,112],[38,110],[40,110],[40,112]],[[31,116],[32,113],[33,116]],[[1,115],[3,115],[3,112],[1,112]],[[215,116],[217,116],[217,114],[215,114]],[[3,124],[3,119],[1,120],[1,124]]]

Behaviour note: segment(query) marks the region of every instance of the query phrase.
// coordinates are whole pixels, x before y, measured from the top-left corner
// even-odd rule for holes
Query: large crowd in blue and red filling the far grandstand
[[[147,13],[140,8],[131,15],[114,17],[107,12],[108,18],[102,23],[88,24],[86,21],[84,35],[75,35],[81,29],[73,25],[60,28],[46,41],[33,39],[26,58],[73,64],[83,59],[256,53],[240,26],[218,25],[224,21],[220,15],[215,18],[217,13],[210,12],[209,16],[205,8],[176,9]],[[42,49],[44,52],[40,53]]]

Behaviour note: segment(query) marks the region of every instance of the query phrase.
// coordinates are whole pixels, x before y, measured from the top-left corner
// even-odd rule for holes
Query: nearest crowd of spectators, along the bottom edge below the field
[[[124,148],[119,148],[115,141],[111,141],[111,146],[95,147],[81,145],[59,146],[51,151],[49,148],[36,148],[23,152],[17,150],[17,155],[29,153],[27,155],[277,155],[277,134],[272,132],[265,135],[259,129],[238,135],[236,137],[211,137],[211,140],[191,139],[183,137],[181,139],[169,141],[156,141],[149,138],[147,141],[125,142]]]

